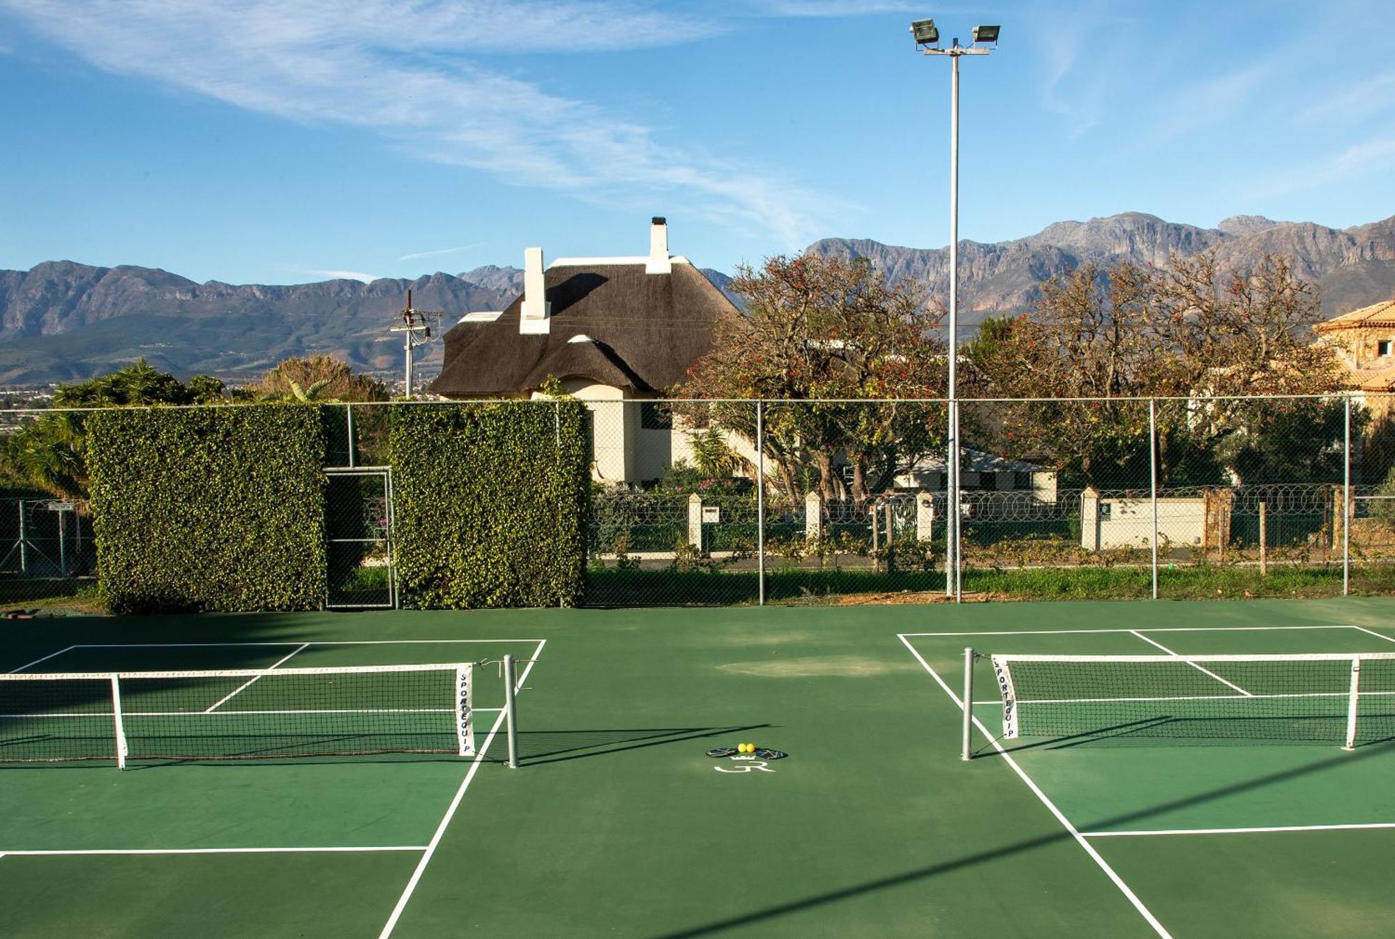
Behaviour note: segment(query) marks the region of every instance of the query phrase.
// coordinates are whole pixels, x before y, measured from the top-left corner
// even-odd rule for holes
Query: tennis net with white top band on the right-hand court
[[[1395,653],[995,655],[1003,737],[1395,738]]]

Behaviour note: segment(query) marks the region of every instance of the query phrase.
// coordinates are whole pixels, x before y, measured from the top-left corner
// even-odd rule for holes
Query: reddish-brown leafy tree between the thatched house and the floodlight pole
[[[678,393],[771,401],[764,449],[787,495],[862,503],[943,447],[943,405],[873,403],[944,394],[943,311],[918,284],[887,284],[866,258],[801,255],[742,267],[731,288],[744,308],[718,320]],[[698,419],[755,444],[749,404],[704,405]]]

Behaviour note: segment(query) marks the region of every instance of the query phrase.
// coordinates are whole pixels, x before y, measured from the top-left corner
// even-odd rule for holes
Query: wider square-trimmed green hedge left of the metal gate
[[[98,570],[113,613],[319,607],[319,408],[112,408],[86,428]]]

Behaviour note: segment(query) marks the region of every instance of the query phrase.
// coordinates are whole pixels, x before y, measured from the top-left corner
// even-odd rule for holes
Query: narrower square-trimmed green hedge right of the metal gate
[[[590,415],[580,401],[393,408],[403,605],[575,606],[586,567]]]

